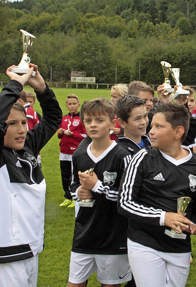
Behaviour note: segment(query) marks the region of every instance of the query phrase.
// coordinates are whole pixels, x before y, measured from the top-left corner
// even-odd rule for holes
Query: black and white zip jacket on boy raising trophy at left
[[[0,263],[31,258],[43,250],[46,183],[36,158],[62,119],[55,95],[47,86],[43,94],[37,94],[43,118],[27,132],[24,148],[4,147],[5,121],[22,89],[18,81],[10,80],[0,93]]]

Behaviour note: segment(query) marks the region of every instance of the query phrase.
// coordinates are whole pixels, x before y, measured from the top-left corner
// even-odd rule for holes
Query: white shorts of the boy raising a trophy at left
[[[38,254],[31,258],[0,264],[1,287],[36,287]]]

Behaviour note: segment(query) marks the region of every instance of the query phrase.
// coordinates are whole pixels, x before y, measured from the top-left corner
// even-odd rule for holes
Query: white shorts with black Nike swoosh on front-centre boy
[[[103,284],[120,284],[132,278],[127,254],[98,255],[71,252],[71,283],[85,282],[94,272],[97,272],[97,280]]]

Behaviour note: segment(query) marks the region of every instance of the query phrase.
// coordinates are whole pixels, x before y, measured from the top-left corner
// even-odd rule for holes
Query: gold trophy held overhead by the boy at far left
[[[17,73],[19,75],[27,74],[29,71],[29,63],[30,63],[30,58],[28,57],[28,51],[30,47],[33,44],[33,40],[35,37],[28,32],[24,30],[20,30],[22,33],[22,45],[23,45],[23,55],[22,59],[20,61],[20,64],[18,64],[18,68],[12,68],[12,72]],[[36,72],[33,71],[32,76],[35,76]]]

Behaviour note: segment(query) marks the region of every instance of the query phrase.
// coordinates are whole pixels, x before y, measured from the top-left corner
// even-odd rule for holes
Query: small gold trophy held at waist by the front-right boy
[[[187,206],[188,206],[190,200],[191,200],[191,198],[190,198],[190,197],[187,197],[187,196],[185,196],[185,197],[179,197],[179,198],[177,199],[177,202],[178,202],[177,213],[178,213],[178,214],[181,214],[181,215],[184,214],[184,212],[186,211]],[[179,225],[178,225],[177,227],[178,227],[178,229],[181,230],[181,227],[180,227]],[[173,229],[173,228],[172,228],[171,230],[165,229],[165,234],[169,235],[169,236],[172,237],[172,238],[179,238],[179,239],[186,239],[186,237],[187,237],[187,235],[184,234],[184,233],[182,232],[182,230],[181,230],[181,232],[179,232],[179,231],[176,231],[176,230]]]

